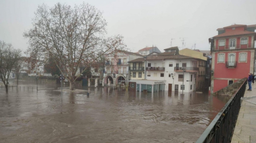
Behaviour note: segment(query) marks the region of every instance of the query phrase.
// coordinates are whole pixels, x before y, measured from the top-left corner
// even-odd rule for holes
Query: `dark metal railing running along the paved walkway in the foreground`
[[[237,89],[226,105],[218,112],[196,143],[230,143],[244,97],[247,80]]]

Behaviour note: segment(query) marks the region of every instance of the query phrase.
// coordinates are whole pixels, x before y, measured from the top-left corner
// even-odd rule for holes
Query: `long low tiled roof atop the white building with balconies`
[[[169,55],[169,56],[151,56],[147,57],[146,61],[153,61],[153,60],[167,60],[167,59],[173,59],[173,60],[181,60],[181,59],[197,59],[194,57],[188,57],[184,55]]]

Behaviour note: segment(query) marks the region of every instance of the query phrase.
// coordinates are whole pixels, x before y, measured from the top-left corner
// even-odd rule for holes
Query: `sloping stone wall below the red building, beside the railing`
[[[229,86],[224,87],[223,89],[218,90],[217,92],[213,93],[215,95],[224,95],[224,96],[232,96],[237,89],[247,80],[247,78],[240,79],[239,81],[230,84]]]

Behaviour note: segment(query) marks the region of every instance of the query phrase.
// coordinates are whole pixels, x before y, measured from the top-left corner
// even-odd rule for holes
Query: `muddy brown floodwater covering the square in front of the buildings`
[[[229,100],[106,86],[61,97],[47,89],[56,84],[19,86],[0,87],[0,143],[193,143]]]

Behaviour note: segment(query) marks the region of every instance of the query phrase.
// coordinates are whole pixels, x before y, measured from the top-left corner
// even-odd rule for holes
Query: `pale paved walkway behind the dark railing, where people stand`
[[[252,85],[252,91],[246,90],[244,95],[244,97],[253,96],[256,96],[256,83]],[[256,98],[249,101],[256,103]],[[242,102],[231,143],[256,143],[256,105],[247,101]]]

